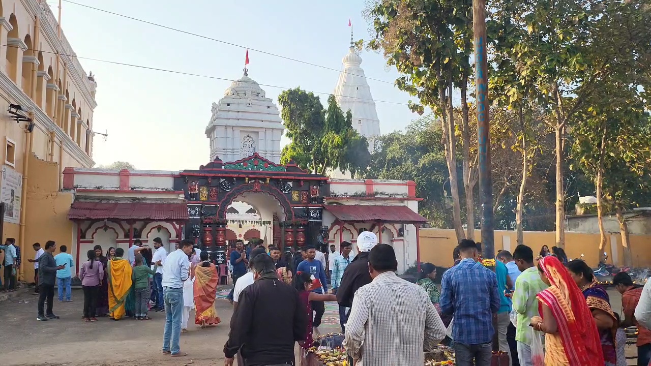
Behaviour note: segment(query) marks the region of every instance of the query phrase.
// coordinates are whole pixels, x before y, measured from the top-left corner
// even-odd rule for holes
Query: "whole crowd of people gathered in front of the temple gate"
[[[217,268],[191,240],[182,240],[169,255],[159,238],[153,242],[153,251],[139,240],[127,253],[109,248],[104,255],[100,246],[88,251],[79,268],[83,320],[149,320],[150,310],[164,311],[163,354],[186,356],[179,337],[191,309],[202,328],[221,321],[214,306]],[[0,246],[9,253],[5,268],[7,258],[20,260],[14,243],[8,239]],[[235,358],[247,366],[293,365],[297,342],[305,359],[313,336],[320,334],[324,302],[337,301],[350,365],[421,365],[423,352],[443,343],[454,348],[458,366],[492,365],[494,349],[516,366],[621,366],[626,365],[622,328],[637,326],[638,365],[651,366],[651,285],[635,286],[626,272],[613,279],[622,294],[620,318],[592,269],[583,260],[568,261],[563,251],[542,249],[534,257],[531,247],[519,245],[513,253],[501,250],[496,260],[484,260],[480,243],[462,240],[439,290],[433,264],[422,264],[416,283],[410,283],[395,274],[393,247],[378,244],[372,232],[359,234],[356,244],[357,255],[351,243],[342,242],[339,251],[329,248],[326,259],[314,246],[283,256],[278,247],[245,248],[237,242],[230,253],[234,313],[225,365]],[[38,284],[37,319],[57,319],[54,287],[59,301],[72,300],[74,262],[65,246],[53,255],[52,241],[34,250],[29,261]]]

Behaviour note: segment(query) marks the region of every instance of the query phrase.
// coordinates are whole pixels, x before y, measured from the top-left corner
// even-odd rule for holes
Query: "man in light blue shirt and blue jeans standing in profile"
[[[189,277],[189,255],[195,243],[184,239],[178,249],[170,253],[163,264],[163,301],[165,302],[165,331],[163,331],[163,354],[172,357],[187,356],[181,352],[178,340],[181,337],[183,314],[183,283]]]

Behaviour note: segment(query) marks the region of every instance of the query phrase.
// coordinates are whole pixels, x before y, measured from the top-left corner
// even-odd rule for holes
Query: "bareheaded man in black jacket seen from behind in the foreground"
[[[224,345],[225,366],[240,350],[246,366],[294,365],[294,343],[307,333],[307,313],[298,292],[279,280],[273,259],[253,259],[255,282],[240,294]]]

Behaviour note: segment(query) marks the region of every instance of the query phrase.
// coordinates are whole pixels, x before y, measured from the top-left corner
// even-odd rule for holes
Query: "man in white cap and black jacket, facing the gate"
[[[355,291],[372,281],[370,273],[368,273],[368,252],[376,245],[378,245],[378,237],[370,231],[363,231],[357,236],[359,254],[344,270],[339,289],[337,289],[337,302],[340,306],[347,307],[349,314]],[[346,314],[347,317],[348,314]]]

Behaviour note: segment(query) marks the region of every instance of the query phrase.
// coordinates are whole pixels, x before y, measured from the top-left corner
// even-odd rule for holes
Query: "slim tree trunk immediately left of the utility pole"
[[[464,139],[464,191],[465,215],[467,216],[467,238],[475,240],[475,184],[470,167],[470,124],[467,102],[468,76],[464,72],[461,81],[462,137]],[[450,95],[450,98],[452,96]],[[451,103],[450,103],[451,104]]]

